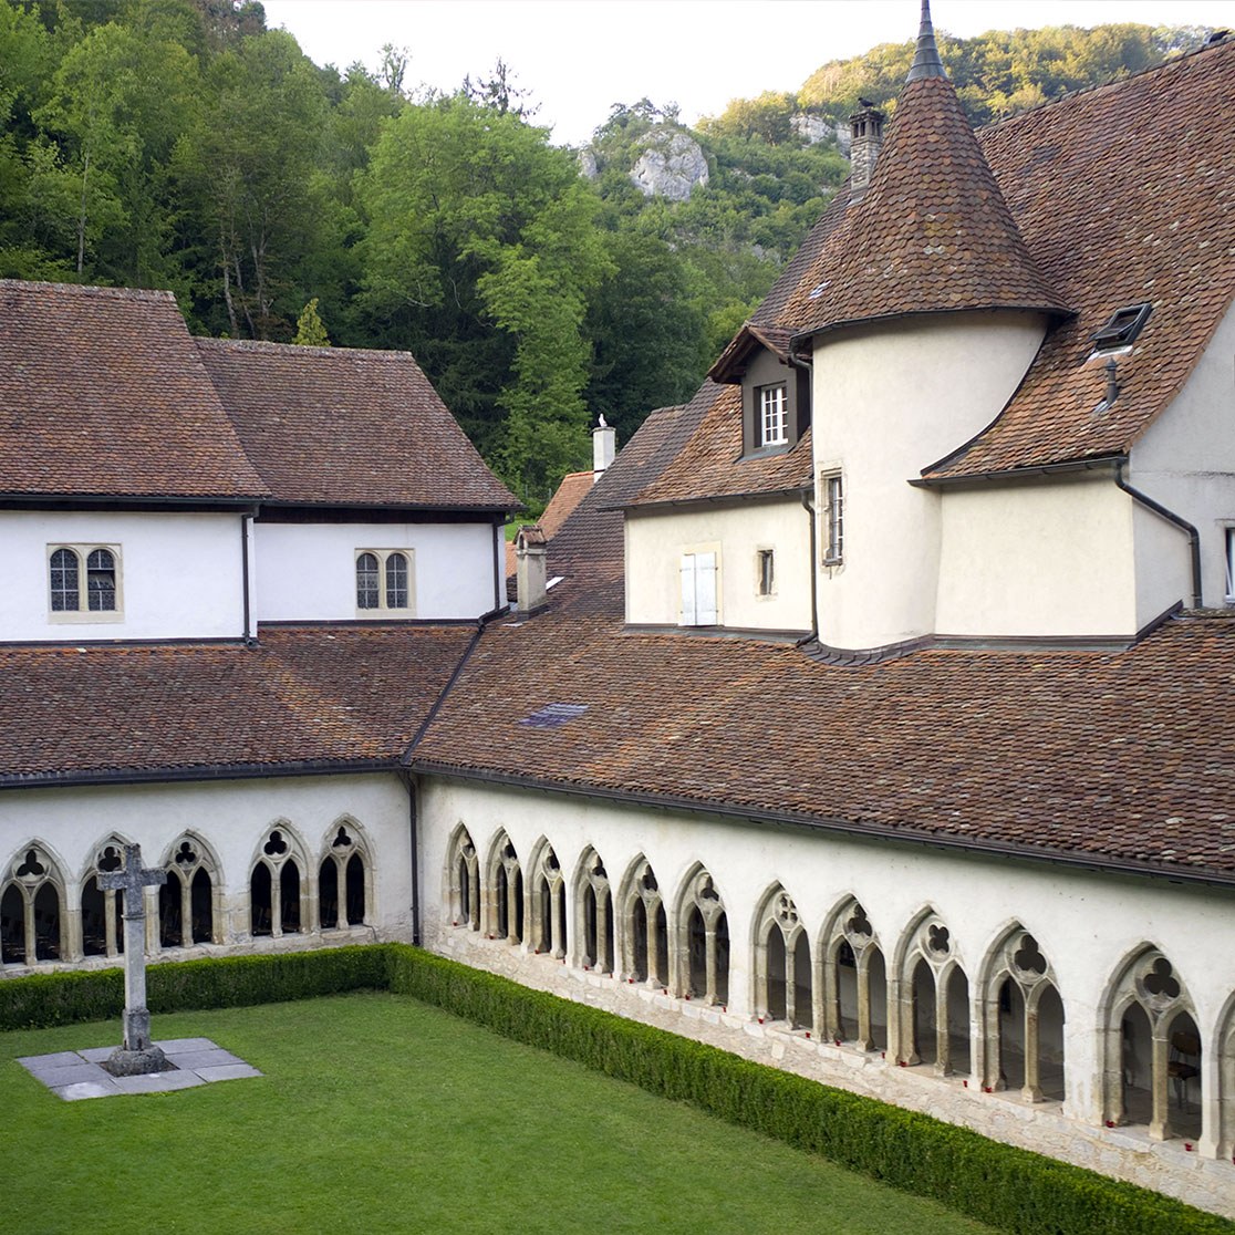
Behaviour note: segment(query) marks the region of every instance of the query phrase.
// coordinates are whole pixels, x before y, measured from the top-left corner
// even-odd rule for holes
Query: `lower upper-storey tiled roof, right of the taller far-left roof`
[[[275,501],[511,510],[406,352],[196,340]]]

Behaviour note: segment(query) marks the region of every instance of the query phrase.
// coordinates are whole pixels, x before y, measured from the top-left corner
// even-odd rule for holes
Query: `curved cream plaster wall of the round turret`
[[[840,471],[845,485],[844,564],[816,563],[824,643],[878,647],[937,629],[940,495],[908,482],[995,417],[1042,335],[1036,314],[966,312],[821,336],[816,483]],[[816,508],[823,519],[818,493]]]

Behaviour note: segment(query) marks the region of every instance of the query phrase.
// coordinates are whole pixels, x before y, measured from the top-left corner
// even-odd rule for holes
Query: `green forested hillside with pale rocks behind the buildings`
[[[987,122],[1203,35],[941,49]],[[405,53],[375,58],[316,65],[252,0],[6,0],[0,277],[170,288],[212,335],[410,350],[535,503],[584,466],[598,412],[626,440],[693,391],[847,174],[858,95],[890,106],[911,49],[824,64],[697,132],[615,107],[585,174],[500,63],[443,96]],[[699,169],[682,200],[631,179],[676,135]]]

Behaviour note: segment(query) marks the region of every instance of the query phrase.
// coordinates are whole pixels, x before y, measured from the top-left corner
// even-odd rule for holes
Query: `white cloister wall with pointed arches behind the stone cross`
[[[305,929],[284,936],[249,935],[249,876],[272,829],[293,841],[301,881],[316,900],[317,868],[340,823],[356,831],[372,858],[373,897],[366,905],[369,926],[345,931]],[[411,840],[408,792],[388,773],[287,777],[183,784],[99,785],[78,789],[14,789],[0,793],[0,869],[31,842],[49,848],[64,877],[68,908],[80,906],[82,884],[99,846],[112,834],[142,847],[147,866],[170,860],[170,846],[193,832],[217,860],[224,900],[222,945],[199,945],[194,953],[268,951],[282,946],[322,946],[341,934],[352,941],[411,939]],[[367,865],[369,865],[367,862]],[[149,893],[147,910],[158,904]],[[305,924],[308,927],[308,923]],[[111,963],[90,958],[82,965]],[[40,969],[52,966],[41,965]],[[5,972],[14,967],[6,966]]]

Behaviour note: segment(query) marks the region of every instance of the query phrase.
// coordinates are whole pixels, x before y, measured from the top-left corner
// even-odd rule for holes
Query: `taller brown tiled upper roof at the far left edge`
[[[0,493],[264,492],[169,291],[0,279]]]

